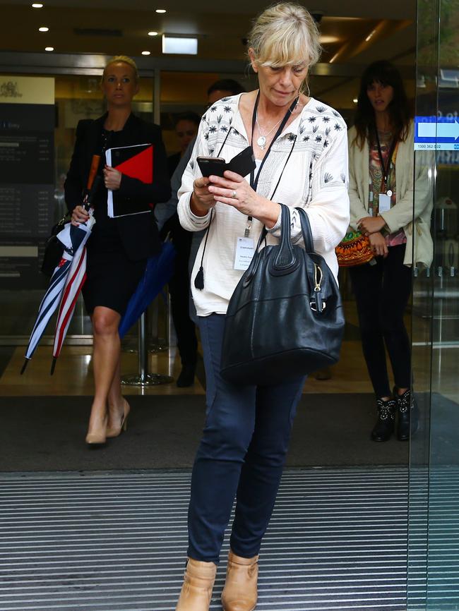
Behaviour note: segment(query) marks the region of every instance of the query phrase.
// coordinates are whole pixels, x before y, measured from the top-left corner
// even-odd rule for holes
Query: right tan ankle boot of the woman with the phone
[[[257,580],[258,556],[242,558],[230,551],[222,592],[223,611],[253,611],[256,606]]]

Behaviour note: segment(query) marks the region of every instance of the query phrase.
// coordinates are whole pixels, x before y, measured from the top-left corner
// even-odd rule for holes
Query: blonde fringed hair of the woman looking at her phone
[[[260,13],[248,42],[258,66],[292,66],[306,61],[311,68],[322,51],[314,18],[293,2],[279,2]]]

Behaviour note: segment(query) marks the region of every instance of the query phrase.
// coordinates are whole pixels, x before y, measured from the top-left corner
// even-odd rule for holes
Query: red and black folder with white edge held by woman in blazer
[[[108,149],[105,153],[107,164],[121,174],[138,179],[143,183],[153,183],[153,145],[141,144]],[[118,190],[109,190],[107,198],[109,217],[123,217],[126,214],[149,212],[151,207],[133,198],[125,198]]]

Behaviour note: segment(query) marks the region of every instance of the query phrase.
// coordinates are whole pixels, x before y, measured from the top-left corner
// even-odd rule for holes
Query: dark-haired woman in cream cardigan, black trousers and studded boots
[[[403,315],[411,294],[413,262],[429,266],[432,258],[431,199],[424,164],[416,167],[413,210],[413,134],[400,73],[388,61],[372,63],[362,75],[355,124],[349,132],[349,193],[350,226],[369,236],[374,260],[351,267],[350,276],[378,409],[371,439],[379,442],[391,437],[395,416],[398,439],[410,437],[411,355]]]

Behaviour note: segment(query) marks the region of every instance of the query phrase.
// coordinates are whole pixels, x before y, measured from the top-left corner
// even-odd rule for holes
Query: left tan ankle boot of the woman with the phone
[[[175,611],[209,611],[217,565],[189,558]]]

